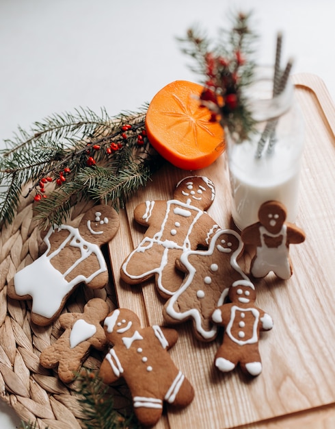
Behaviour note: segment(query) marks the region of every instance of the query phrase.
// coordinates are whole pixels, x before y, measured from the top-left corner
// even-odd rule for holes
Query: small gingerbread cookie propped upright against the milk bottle
[[[250,272],[263,278],[270,271],[287,280],[293,274],[289,245],[302,243],[305,233],[293,223],[286,222],[286,208],[279,201],[266,201],[258,210],[259,221],[241,232],[245,244],[256,247]]]

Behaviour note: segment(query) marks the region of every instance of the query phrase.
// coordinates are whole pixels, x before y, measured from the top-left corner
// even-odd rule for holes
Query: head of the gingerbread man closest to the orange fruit
[[[174,199],[207,210],[213,203],[215,187],[207,177],[190,176],[181,180],[174,190]]]

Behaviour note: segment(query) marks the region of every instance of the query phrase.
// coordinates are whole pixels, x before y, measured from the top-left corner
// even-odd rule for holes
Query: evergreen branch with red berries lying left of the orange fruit
[[[81,199],[124,206],[162,161],[146,137],[147,108],[115,117],[80,108],[35,122],[29,132],[19,127],[0,151],[0,221],[13,221],[27,184],[23,196],[38,201],[42,228],[63,223]]]

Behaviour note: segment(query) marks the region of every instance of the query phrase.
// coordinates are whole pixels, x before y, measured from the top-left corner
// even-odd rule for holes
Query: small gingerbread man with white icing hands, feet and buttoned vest
[[[251,282],[233,283],[228,297],[231,302],[216,308],[212,315],[213,321],[225,328],[215,367],[228,372],[239,364],[243,372],[258,376],[263,369],[258,350],[260,330],[272,329],[273,320],[255,306],[256,291]]]

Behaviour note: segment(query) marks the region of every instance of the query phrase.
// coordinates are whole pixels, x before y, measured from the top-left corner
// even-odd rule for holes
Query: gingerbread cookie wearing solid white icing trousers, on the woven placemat
[[[44,237],[46,251],[14,275],[8,295],[32,299],[31,320],[48,325],[80,283],[92,289],[107,284],[107,265],[100,247],[113,238],[119,223],[116,210],[100,205],[85,213],[78,228],[51,227]]]

